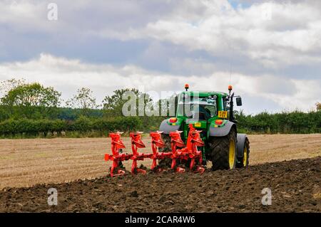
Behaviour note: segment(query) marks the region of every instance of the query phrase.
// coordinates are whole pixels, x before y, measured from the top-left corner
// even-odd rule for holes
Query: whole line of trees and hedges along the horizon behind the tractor
[[[0,137],[100,137],[109,132],[158,130],[167,116],[123,117],[124,93],[131,91],[143,97],[145,105],[161,108],[162,100],[154,101],[136,89],[115,90],[96,102],[89,88],[80,88],[69,100],[61,93],[40,83],[5,80],[0,83]],[[168,105],[168,102],[165,102]],[[238,130],[247,133],[320,133],[321,103],[310,112],[280,112],[245,115],[236,112]]]

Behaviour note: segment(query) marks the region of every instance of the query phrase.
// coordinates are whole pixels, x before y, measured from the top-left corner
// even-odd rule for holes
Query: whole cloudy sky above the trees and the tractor
[[[98,102],[231,84],[248,114],[307,112],[321,101],[321,1],[1,0],[0,80],[11,78],[63,100],[91,88]]]

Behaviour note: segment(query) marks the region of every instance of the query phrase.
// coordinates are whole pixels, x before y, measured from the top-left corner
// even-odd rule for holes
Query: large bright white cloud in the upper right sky
[[[234,51],[265,68],[321,62],[315,55],[321,51],[320,8],[271,2],[233,9],[225,1],[210,2],[202,1],[208,12],[197,20],[184,14],[168,16],[130,31],[128,37],[147,36],[215,55]],[[267,9],[271,18],[263,19]]]

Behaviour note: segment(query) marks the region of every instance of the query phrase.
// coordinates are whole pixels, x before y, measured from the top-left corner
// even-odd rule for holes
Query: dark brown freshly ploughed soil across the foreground
[[[58,191],[49,206],[48,189]],[[262,190],[272,191],[263,206]],[[320,212],[321,157],[204,174],[149,173],[0,191],[1,212]]]

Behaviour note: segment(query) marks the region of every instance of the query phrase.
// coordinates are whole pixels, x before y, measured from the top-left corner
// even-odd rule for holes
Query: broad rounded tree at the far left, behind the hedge
[[[39,83],[19,84],[1,98],[13,117],[44,118],[49,117],[60,103],[61,93],[52,87]]]

